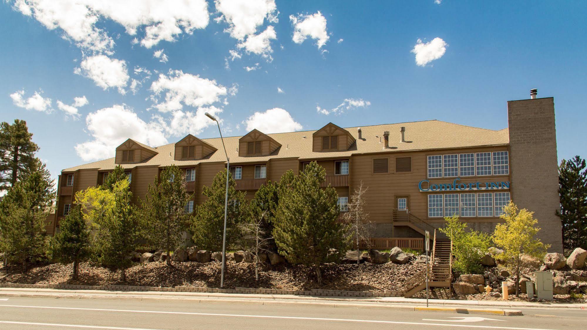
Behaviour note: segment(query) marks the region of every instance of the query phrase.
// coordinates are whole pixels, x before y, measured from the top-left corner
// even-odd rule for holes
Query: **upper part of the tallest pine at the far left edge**
[[[31,173],[35,152],[39,147],[32,142],[24,120],[14,124],[0,123],[0,191],[8,190]]]

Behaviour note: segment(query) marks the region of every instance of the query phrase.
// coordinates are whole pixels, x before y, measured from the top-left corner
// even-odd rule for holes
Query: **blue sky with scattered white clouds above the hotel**
[[[217,137],[205,111],[230,136],[429,119],[502,129],[506,102],[531,88],[555,97],[559,159],[587,156],[587,2],[68,2],[0,4],[0,120],[26,120],[53,175],[126,137]]]

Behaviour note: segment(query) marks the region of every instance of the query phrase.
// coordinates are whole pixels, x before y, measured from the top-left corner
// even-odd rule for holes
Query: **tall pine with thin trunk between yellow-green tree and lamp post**
[[[185,189],[183,171],[175,165],[163,170],[153,185],[149,184],[141,214],[149,219],[147,238],[153,247],[171,255],[171,251],[183,243],[189,217],[185,204],[192,197]],[[167,258],[167,265],[171,266],[171,258]]]

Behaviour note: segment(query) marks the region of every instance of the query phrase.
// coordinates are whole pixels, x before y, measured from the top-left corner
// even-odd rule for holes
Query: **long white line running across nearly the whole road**
[[[220,314],[220,313],[168,312],[168,311],[138,311],[138,310],[133,310],[133,309],[79,308],[79,307],[26,306],[26,305],[0,305],[0,307],[71,309],[71,310],[76,310],[76,311],[124,312],[124,313],[132,312],[132,313],[181,314],[181,315],[202,315],[202,316],[233,316],[233,317],[239,317],[239,318],[305,319],[305,320],[309,320],[309,321],[337,321],[337,322],[363,322],[363,323],[382,323],[382,324],[461,326],[461,327],[467,327],[467,328],[485,328],[485,329],[554,330],[554,329],[545,329],[545,328],[515,328],[515,327],[511,327],[511,326],[382,321],[382,320],[375,320],[375,319],[311,318],[311,317],[304,317],[304,316],[246,315],[246,314]]]

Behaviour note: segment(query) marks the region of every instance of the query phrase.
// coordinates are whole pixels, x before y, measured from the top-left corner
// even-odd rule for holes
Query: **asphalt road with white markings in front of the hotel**
[[[15,297],[0,299],[0,329],[586,329],[587,310],[522,309],[524,316],[494,316],[334,308],[323,305],[243,305]]]

